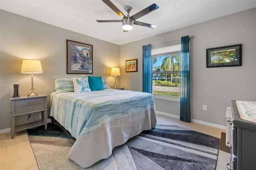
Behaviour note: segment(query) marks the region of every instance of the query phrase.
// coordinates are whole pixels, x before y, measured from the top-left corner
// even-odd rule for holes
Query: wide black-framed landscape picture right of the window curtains
[[[206,68],[242,66],[242,44],[206,49]]]

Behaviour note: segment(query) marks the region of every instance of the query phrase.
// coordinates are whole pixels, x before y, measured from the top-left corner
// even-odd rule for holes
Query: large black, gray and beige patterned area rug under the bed
[[[67,158],[74,143],[56,125],[29,129],[40,170],[83,169]],[[172,125],[157,125],[117,146],[86,170],[214,170],[220,139]]]

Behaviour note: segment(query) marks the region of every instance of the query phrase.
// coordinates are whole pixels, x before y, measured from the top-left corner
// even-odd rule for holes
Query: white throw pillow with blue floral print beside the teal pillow
[[[84,91],[91,91],[88,77],[73,77],[74,83],[74,92],[84,92]]]

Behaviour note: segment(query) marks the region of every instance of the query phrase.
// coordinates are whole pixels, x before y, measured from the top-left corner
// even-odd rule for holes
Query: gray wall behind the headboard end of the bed
[[[120,45],[105,42],[36,20],[0,11],[0,129],[10,128],[10,97],[13,84],[20,84],[20,95],[28,95],[31,88],[30,74],[21,74],[23,59],[39,59],[42,74],[34,74],[34,88],[38,94],[54,92],[56,75],[66,74],[66,40],[93,45],[93,76],[106,77],[114,87],[111,67],[119,67]],[[119,84],[119,79],[117,79]],[[49,106],[48,97],[48,106]],[[26,121],[25,119],[16,119]],[[18,123],[19,124],[19,123]]]

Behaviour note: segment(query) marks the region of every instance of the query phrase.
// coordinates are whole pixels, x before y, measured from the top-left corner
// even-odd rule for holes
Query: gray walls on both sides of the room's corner
[[[194,35],[191,40],[192,119],[226,126],[225,107],[230,105],[231,99],[256,101],[256,8],[124,45],[0,12],[1,130],[10,128],[9,97],[13,95],[13,84],[20,84],[20,95],[30,93],[30,75],[20,73],[23,59],[42,62],[44,73],[34,75],[38,94],[50,95],[55,91],[52,77],[71,76],[66,74],[66,39],[93,45],[93,75],[106,77],[110,87],[114,87],[110,68],[120,67],[118,87],[142,91],[142,45]],[[207,48],[239,43],[242,43],[242,67],[206,68]],[[138,59],[138,72],[125,72],[128,59]],[[177,102],[156,99],[155,104],[157,111],[179,115]],[[208,105],[208,111],[203,111],[202,105]]]

